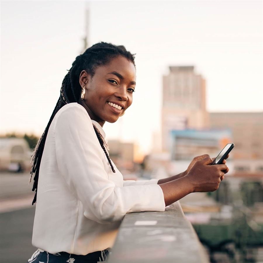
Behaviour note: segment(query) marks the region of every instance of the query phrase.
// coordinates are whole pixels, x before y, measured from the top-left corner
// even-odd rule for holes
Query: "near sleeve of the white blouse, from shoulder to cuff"
[[[84,216],[107,224],[126,213],[164,211],[158,184],[118,187],[108,179],[104,153],[84,108],[68,107],[54,125],[56,158],[60,174],[84,206]]]

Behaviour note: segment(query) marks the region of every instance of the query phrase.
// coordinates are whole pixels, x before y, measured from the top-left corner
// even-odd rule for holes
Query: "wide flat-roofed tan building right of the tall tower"
[[[210,125],[231,129],[236,173],[263,174],[263,112],[210,113]]]

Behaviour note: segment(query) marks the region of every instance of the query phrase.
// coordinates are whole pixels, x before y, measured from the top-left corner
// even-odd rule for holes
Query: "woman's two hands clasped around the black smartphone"
[[[191,182],[193,192],[213,192],[218,189],[221,178],[229,168],[226,164],[210,165],[212,162],[210,157],[205,157],[191,166],[185,177]]]

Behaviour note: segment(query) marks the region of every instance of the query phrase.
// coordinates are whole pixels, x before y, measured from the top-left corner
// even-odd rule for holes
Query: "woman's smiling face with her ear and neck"
[[[79,84],[82,88],[86,87],[86,93],[84,100],[79,99],[79,104],[87,110],[91,120],[98,122],[101,127],[105,121],[116,122],[132,103],[135,81],[135,67],[123,56],[113,58],[108,65],[98,67],[92,78],[83,70],[79,76]]]

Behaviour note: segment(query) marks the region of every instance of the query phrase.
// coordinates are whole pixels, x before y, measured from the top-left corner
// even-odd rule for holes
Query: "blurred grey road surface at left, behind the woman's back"
[[[0,261],[27,262],[36,248],[31,244],[35,205],[29,172],[0,174]]]

